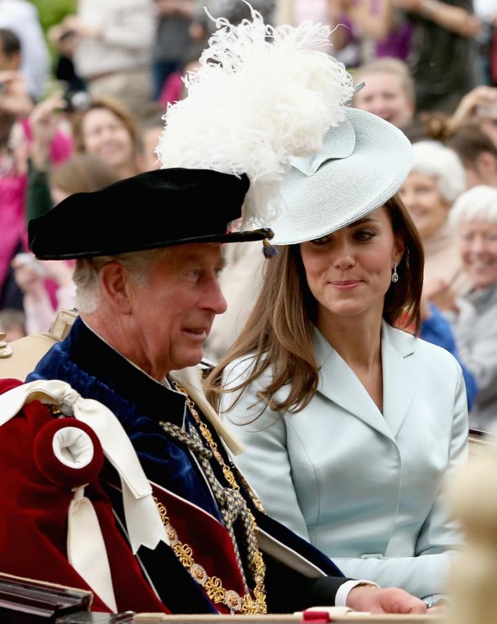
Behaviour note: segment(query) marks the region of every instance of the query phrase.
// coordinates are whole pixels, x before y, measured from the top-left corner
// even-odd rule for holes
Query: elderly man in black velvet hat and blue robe
[[[77,259],[80,316],[28,381],[68,382],[117,416],[153,484],[170,540],[171,547],[140,547],[129,563],[131,550],[124,542],[117,545],[115,535],[126,539],[128,518],[112,470],[104,467],[94,491],[113,506],[116,518],[115,525],[107,520],[101,531],[110,544],[117,610],[158,610],[159,598],[164,611],[181,613],[292,612],[317,604],[423,612],[425,605],[400,589],[344,578],[331,560],[264,514],[226,452],[225,445],[234,452],[239,445],[202,395],[198,369],[188,368],[202,360],[215,315],[226,309],[217,282],[221,244],[262,240],[269,233],[227,233],[228,224],[240,217],[248,187],[246,176],[212,170],[153,171],[95,193],[72,195],[30,224],[37,257]],[[25,417],[35,418],[28,411]],[[19,427],[19,418],[0,427],[0,447],[8,451],[2,450],[3,471],[19,449],[2,431],[12,423]],[[26,444],[31,435],[32,427],[19,429],[17,439]],[[39,467],[40,460],[35,463]],[[97,507],[98,496],[93,496]],[[14,499],[10,490],[9,500]],[[39,500],[46,500],[41,507],[53,503],[48,496]],[[22,525],[20,510],[16,517]],[[62,537],[56,534],[54,543],[62,543]],[[4,571],[28,576],[35,553],[14,557],[7,539],[0,532]],[[47,539],[50,532],[43,543]],[[57,565],[67,556],[64,547],[59,550]],[[113,563],[117,553],[120,570]],[[38,563],[39,575],[45,572],[47,578],[49,566],[50,560],[45,568]],[[50,576],[66,583],[67,578]],[[91,587],[73,571],[70,579]],[[119,594],[122,583],[126,596]],[[154,593],[147,600],[142,599],[144,583]],[[133,584],[142,594],[133,593]],[[98,605],[106,608],[105,601]]]

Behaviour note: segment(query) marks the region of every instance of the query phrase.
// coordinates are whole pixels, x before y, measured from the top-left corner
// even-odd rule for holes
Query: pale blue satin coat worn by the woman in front
[[[450,353],[382,325],[383,413],[318,330],[318,392],[298,413],[253,420],[253,382],[224,415],[246,452],[236,462],[266,511],[329,555],[351,578],[425,598],[445,592],[460,545],[442,481],[467,458],[467,404]],[[227,367],[244,378],[250,358]],[[282,389],[280,396],[288,389]],[[222,411],[233,402],[224,395]],[[259,404],[260,408],[260,404]]]

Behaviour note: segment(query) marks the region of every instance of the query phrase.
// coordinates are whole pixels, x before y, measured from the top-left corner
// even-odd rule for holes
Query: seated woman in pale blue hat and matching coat
[[[460,540],[440,488],[467,408],[454,358],[394,329],[419,322],[422,247],[396,195],[410,166],[402,132],[354,109],[293,159],[280,254],[207,383],[269,513],[346,576],[431,604]]]

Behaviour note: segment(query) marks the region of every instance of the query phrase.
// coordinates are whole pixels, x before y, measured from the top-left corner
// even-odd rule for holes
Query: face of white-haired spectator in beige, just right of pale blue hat
[[[409,173],[399,195],[422,240],[436,233],[447,220],[450,206],[444,201],[432,175]]]

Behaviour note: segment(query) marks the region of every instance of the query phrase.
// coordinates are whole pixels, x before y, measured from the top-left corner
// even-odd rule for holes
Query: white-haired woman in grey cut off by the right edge
[[[465,366],[478,384],[471,427],[497,419],[497,189],[474,186],[454,204],[462,266],[473,288],[454,302],[454,333]]]

